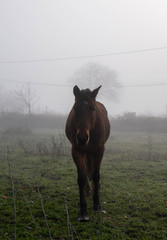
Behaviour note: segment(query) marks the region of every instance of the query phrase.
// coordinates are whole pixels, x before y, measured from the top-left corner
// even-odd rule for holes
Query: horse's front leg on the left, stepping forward
[[[78,221],[88,221],[89,217],[87,214],[87,167],[86,167],[86,154],[72,148],[72,156],[77,166],[78,171],[78,186],[80,195],[80,211]]]

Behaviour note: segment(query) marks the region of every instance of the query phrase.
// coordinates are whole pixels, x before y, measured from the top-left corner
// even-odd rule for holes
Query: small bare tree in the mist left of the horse
[[[16,95],[20,101],[24,111],[30,116],[38,102],[38,96],[35,89],[32,88],[31,83],[22,84],[18,86]]]

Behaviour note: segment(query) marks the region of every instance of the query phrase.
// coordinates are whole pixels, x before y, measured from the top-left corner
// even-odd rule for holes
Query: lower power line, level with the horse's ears
[[[38,86],[47,86],[47,87],[73,87],[72,84],[56,84],[56,83],[41,83],[41,82],[30,82],[30,81],[19,81],[19,80],[9,80],[9,79],[0,79],[2,82],[9,83],[19,83],[19,84],[32,84]],[[150,83],[150,84],[130,84],[130,85],[115,85],[113,88],[135,88],[135,87],[160,87],[167,86],[167,83]]]

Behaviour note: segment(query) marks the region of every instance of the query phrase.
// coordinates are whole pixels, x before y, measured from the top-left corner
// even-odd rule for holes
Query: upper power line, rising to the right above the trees
[[[48,59],[0,61],[0,64],[57,62],[57,61],[78,60],[78,59],[95,58],[95,57],[109,57],[109,56],[116,56],[116,55],[126,55],[126,54],[134,54],[134,53],[141,53],[141,52],[151,52],[151,51],[159,51],[159,50],[165,50],[165,49],[167,49],[167,47],[145,48],[145,49],[132,50],[132,51],[119,51],[119,52],[106,53],[106,54],[85,55],[85,56],[76,56],[76,57],[72,56],[72,57],[48,58]]]

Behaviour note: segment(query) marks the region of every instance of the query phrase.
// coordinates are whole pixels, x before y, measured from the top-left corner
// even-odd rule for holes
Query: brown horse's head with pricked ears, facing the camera
[[[73,93],[75,96],[74,112],[76,119],[76,142],[79,145],[87,145],[90,140],[90,132],[96,121],[96,96],[98,87],[91,91],[90,89],[80,90],[75,86]]]

